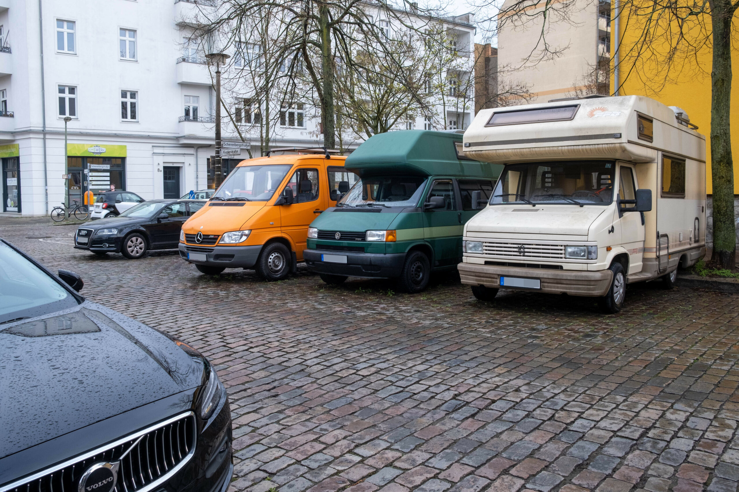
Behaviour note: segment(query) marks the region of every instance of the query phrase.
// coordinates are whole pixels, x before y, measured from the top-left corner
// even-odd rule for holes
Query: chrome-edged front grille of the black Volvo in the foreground
[[[76,491],[90,465],[117,461],[120,468],[114,492],[154,488],[191,459],[196,439],[195,417],[188,412],[1,487],[0,492]]]

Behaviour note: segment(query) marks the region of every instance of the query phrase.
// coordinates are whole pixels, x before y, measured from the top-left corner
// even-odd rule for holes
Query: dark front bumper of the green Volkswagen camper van
[[[321,261],[321,254],[347,257],[347,263]],[[392,278],[400,277],[405,253],[349,253],[304,249],[305,264],[319,274],[343,275],[345,277]]]

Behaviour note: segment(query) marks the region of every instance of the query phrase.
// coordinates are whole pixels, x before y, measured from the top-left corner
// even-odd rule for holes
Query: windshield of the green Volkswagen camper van
[[[424,176],[365,176],[341,198],[337,207],[415,207],[423,193]]]

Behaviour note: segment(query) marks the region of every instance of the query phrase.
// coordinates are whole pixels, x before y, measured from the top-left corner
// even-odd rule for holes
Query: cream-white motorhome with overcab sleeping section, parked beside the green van
[[[696,128],[680,108],[640,96],[480,111],[464,153],[506,165],[464,226],[462,283],[484,300],[499,288],[601,297],[610,312],[627,283],[661,277],[672,288],[678,263],[706,252]]]

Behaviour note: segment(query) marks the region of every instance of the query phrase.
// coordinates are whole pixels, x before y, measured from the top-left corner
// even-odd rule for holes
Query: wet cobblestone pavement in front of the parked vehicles
[[[736,294],[634,285],[605,316],[582,298],[477,302],[453,275],[413,296],[302,267],[282,283],[211,279],[176,252],[73,250],[74,230],[0,236],[217,364],[232,492],[737,488]]]

